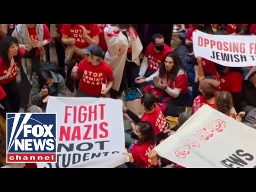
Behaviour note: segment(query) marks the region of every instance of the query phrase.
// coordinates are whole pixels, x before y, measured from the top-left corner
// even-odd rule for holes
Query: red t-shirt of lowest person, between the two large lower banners
[[[150,141],[138,144],[138,141],[133,143],[130,153],[134,159],[134,162],[140,168],[154,168],[154,165],[150,163],[150,159],[148,158],[148,152],[154,149],[155,146],[150,144]]]

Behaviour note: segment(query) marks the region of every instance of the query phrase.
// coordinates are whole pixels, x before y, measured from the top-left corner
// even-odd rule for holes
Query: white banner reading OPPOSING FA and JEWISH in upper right
[[[193,33],[195,56],[228,67],[256,65],[256,36]]]

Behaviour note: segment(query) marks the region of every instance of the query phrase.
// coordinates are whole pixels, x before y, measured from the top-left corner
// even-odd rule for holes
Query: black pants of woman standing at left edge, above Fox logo
[[[1,115],[6,118],[6,113],[18,113],[20,110],[20,97],[18,94],[18,86],[15,81],[2,85],[3,90],[6,93],[6,97],[1,101],[4,107],[1,110]]]

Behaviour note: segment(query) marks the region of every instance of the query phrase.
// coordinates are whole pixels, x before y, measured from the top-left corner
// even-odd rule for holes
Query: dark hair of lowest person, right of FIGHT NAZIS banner
[[[138,140],[138,144],[142,145],[143,143],[150,141],[151,145],[155,145],[155,133],[149,122],[139,122],[137,123],[140,133],[143,138]]]

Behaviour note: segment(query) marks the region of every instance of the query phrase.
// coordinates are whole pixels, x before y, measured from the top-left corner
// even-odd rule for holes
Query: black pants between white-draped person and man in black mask
[[[138,77],[139,67],[134,62],[125,62],[123,77],[119,87],[119,91],[114,89],[110,90],[111,98],[117,99],[120,97],[123,91],[126,89],[135,86],[135,78]]]

